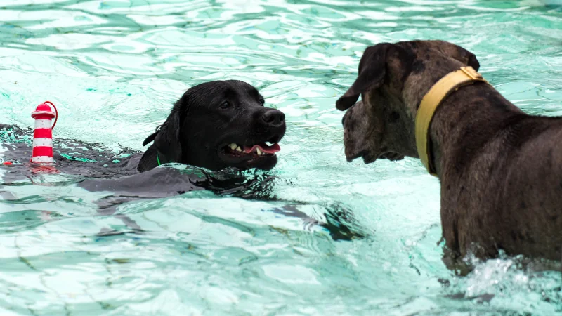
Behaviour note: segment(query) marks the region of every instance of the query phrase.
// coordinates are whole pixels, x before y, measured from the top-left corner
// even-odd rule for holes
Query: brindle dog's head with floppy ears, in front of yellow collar
[[[349,109],[342,119],[347,160],[418,157],[414,121],[421,99],[440,78],[466,65],[480,67],[473,53],[446,41],[367,47],[357,79],[336,102],[339,110]]]

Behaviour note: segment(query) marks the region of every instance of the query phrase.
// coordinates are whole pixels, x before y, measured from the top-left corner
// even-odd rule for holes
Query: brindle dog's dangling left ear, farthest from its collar
[[[372,88],[379,88],[386,76],[386,55],[392,44],[381,43],[365,49],[359,62],[359,74],[351,88],[336,101],[336,108],[344,111],[357,102],[359,95]]]

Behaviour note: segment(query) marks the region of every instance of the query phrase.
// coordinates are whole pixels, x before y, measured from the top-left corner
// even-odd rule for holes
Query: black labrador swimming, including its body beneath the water
[[[0,130],[2,127],[4,161],[15,165],[6,167],[8,172],[0,184],[9,187],[20,185],[22,179],[33,180],[37,171],[22,164],[31,157],[32,131],[17,126],[0,126]],[[242,171],[272,169],[277,164],[275,152],[280,150],[277,142],[285,135],[285,129],[285,115],[265,107],[263,96],[254,86],[235,80],[211,81],[193,86],[183,94],[164,124],[144,141],[143,145],[154,141],[146,152],[123,149],[114,154],[99,144],[55,139],[55,168],[62,174],[79,175],[70,176],[69,181],[86,190],[112,192],[98,201],[103,214],[115,213],[119,204],[131,200],[169,197],[193,190],[277,200],[272,194],[274,177]],[[128,157],[122,158],[124,155]],[[166,166],[156,168],[162,164]],[[4,199],[10,198],[10,192],[0,187],[2,195]],[[287,202],[273,211],[310,223],[312,219],[298,211],[299,204],[306,203]],[[327,228],[334,239],[360,235],[341,222],[347,212],[340,206],[324,207],[327,223],[316,224]],[[138,229],[128,218],[122,220]]]

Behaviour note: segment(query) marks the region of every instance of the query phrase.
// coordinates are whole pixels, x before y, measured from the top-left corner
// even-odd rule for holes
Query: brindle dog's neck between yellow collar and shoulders
[[[462,169],[493,136],[504,121],[524,114],[489,84],[464,86],[438,107],[429,127],[431,163],[442,178],[446,164]],[[462,157],[461,157],[462,156]]]

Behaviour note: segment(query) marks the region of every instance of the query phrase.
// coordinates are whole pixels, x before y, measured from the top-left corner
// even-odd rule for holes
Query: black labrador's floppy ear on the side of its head
[[[157,150],[162,152],[169,162],[181,162],[180,128],[180,112],[174,108],[160,129],[148,136],[145,143],[153,138]]]

